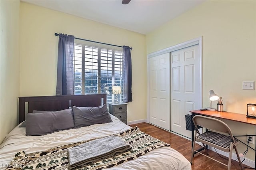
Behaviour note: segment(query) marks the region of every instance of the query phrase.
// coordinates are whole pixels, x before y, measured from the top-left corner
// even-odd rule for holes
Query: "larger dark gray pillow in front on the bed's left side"
[[[74,128],[72,109],[28,113],[26,117],[26,136],[44,135],[68,128]]]

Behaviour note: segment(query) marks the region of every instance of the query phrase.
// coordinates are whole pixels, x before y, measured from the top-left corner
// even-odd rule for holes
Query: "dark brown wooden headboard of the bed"
[[[60,111],[72,106],[101,106],[106,103],[106,94],[19,97],[19,123],[25,121],[26,102],[28,103],[28,113],[32,113],[33,110]]]

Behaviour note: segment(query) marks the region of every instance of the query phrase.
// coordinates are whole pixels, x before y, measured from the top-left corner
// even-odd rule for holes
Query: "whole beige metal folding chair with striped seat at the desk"
[[[201,152],[194,150],[195,143],[196,141],[198,141],[198,142],[202,142],[207,155],[209,154],[207,152],[205,144],[212,146],[214,148],[217,148],[219,150],[222,150],[224,152],[229,152],[228,165],[222,162],[219,162],[218,160],[215,160],[214,158],[211,158],[206,154],[202,154],[212,160],[215,160],[216,162],[219,162],[220,164],[228,166],[228,170],[230,170],[230,167],[231,167],[232,150],[235,149],[241,170],[243,170],[242,163],[236,149],[236,146],[238,145],[238,139],[233,137],[232,132],[226,123],[215,118],[201,116],[201,115],[194,116],[193,122],[196,130],[194,130],[194,142],[192,146],[192,155],[190,160],[191,164],[194,158],[194,151],[199,154],[202,154]],[[207,131],[200,134],[198,130],[198,126],[205,127],[211,131]],[[198,136],[196,136],[196,133],[198,133]]]

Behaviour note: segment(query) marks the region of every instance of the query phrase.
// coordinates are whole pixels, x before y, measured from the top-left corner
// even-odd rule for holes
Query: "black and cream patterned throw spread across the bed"
[[[170,146],[165,142],[162,142],[152,136],[141,132],[138,127],[130,128],[118,135],[124,142],[130,144],[132,149],[128,152],[118,154],[116,156],[97,160],[87,165],[78,166],[76,170],[101,170],[103,168],[110,168],[118,164],[122,164],[128,160],[133,160],[150,152],[155,148],[162,146]],[[87,141],[75,142],[64,146],[51,148],[43,152],[36,152],[26,154],[24,151],[20,151],[15,154],[15,158],[10,162],[9,170],[69,170],[68,162],[68,149],[74,148]]]

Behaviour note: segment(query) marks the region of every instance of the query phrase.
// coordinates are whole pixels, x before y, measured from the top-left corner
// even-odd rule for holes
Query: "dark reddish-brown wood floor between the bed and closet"
[[[168,144],[171,145],[172,148],[180,152],[185,158],[190,161],[191,156],[191,141],[185,138],[182,138],[176,134],[163,130],[161,128],[155,127],[148,123],[138,123],[134,125],[130,125],[131,127],[138,126],[142,132],[146,134],[150,134],[151,136],[158,138]],[[196,149],[200,148],[198,144],[196,144]],[[216,152],[209,150],[209,156],[216,158],[218,161],[223,162],[224,164],[228,163],[228,160],[221,158],[218,156]],[[244,170],[248,170],[250,167],[243,165]],[[204,169],[212,169],[212,170],[226,170],[227,167],[207,158],[206,156],[196,154],[192,164],[192,170],[204,170]],[[239,163],[236,161],[232,162],[231,166],[232,170],[240,170]],[[250,168],[251,169],[251,168]]]

